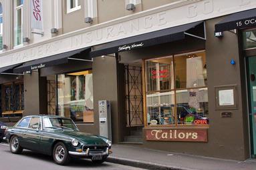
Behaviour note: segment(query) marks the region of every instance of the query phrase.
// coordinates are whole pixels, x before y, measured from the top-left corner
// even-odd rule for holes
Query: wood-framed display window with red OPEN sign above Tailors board
[[[209,124],[205,51],[145,61],[148,125]]]

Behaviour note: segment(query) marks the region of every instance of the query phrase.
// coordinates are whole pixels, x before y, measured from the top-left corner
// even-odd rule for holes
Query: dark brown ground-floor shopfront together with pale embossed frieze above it
[[[100,134],[98,101],[107,100],[113,143],[253,158],[256,16],[241,12],[256,3],[218,5],[172,3],[0,54],[23,79],[1,85],[1,103],[13,86],[13,113],[70,117]]]

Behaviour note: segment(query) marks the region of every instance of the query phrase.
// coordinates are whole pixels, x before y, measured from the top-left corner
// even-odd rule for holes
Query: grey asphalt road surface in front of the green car
[[[21,155],[15,155],[9,151],[9,145],[0,143],[0,169],[1,170],[72,170],[72,169],[112,169],[112,170],[136,170],[137,167],[118,165],[115,163],[103,163],[94,165],[92,161],[80,159],[70,162],[67,166],[56,165],[53,159],[47,155],[23,151]],[[142,169],[140,169],[142,170]]]

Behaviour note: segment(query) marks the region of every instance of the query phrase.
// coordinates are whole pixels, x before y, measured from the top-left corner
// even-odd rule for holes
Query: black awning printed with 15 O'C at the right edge
[[[229,15],[215,25],[215,32],[229,31],[231,29],[245,29],[256,26],[256,9],[250,9]]]

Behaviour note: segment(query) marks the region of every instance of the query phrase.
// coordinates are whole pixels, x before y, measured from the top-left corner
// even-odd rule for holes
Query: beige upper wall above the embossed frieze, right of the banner
[[[97,10],[98,16],[93,18],[93,23],[85,23],[85,1],[80,1],[81,9],[74,11],[72,13],[67,13],[66,2],[62,3],[62,24],[63,33],[69,33],[76,31],[78,29],[83,29],[85,27],[90,27],[98,23],[104,23],[113,19],[118,19],[127,15],[132,15],[141,11],[152,9],[154,7],[159,7],[161,5],[166,5],[168,3],[173,3],[178,0],[142,0],[141,4],[136,5],[134,11],[126,10],[126,1],[122,0],[98,0]]]

